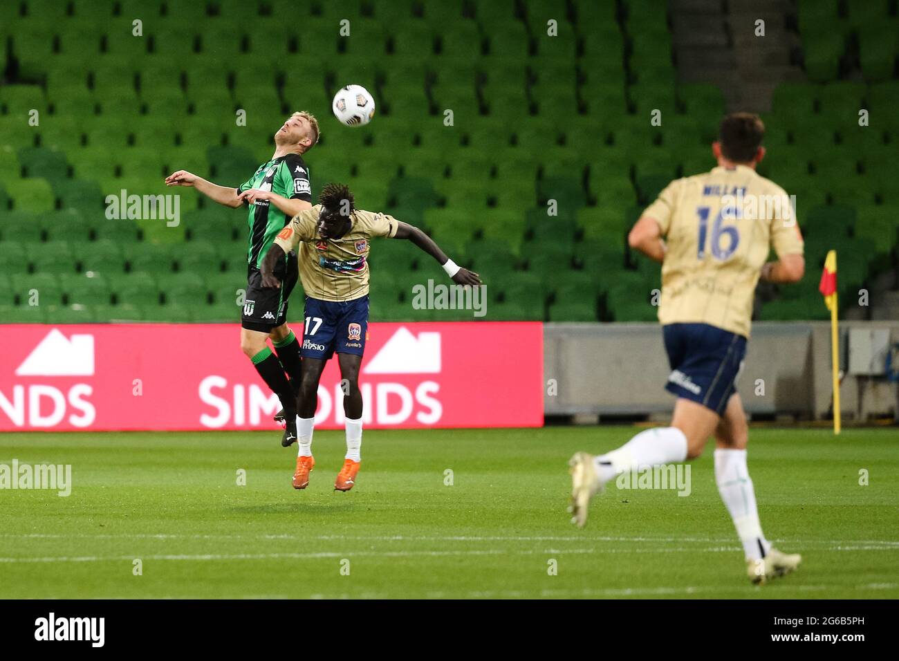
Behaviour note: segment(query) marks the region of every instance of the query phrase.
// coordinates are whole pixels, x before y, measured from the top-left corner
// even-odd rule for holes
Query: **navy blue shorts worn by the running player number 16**
[[[672,368],[665,389],[722,415],[736,392],[746,338],[708,324],[668,324],[662,332]]]

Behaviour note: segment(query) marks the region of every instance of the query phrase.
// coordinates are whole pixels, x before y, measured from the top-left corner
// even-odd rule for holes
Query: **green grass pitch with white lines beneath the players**
[[[612,487],[569,523],[568,457],[635,431],[368,431],[346,494],[343,432],[316,432],[301,492],[277,431],[6,433],[0,463],[71,464],[74,486],[0,490],[0,597],[899,597],[895,428],[752,429],[763,529],[804,557],[762,587],[710,447],[690,496]]]

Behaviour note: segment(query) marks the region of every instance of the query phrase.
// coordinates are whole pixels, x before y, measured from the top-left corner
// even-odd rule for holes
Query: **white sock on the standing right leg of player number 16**
[[[770,542],[761,534],[759,510],[755,505],[755,490],[746,468],[745,450],[715,451],[715,481],[718,493],[734,520],[734,527],[747,560],[758,560],[768,555]]]

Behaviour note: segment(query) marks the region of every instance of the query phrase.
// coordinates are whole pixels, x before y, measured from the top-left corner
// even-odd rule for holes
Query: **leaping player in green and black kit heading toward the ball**
[[[227,207],[249,206],[247,224],[246,297],[240,346],[256,371],[280,399],[286,447],[297,438],[296,395],[299,387],[299,342],[287,326],[290,290],[297,283],[297,255],[285,255],[280,263],[284,287],[262,287],[259,264],[275,236],[299,212],[312,208],[309,168],[303,154],[318,142],[318,122],[308,112],[294,112],[275,133],[271,160],[236,189],[218,186],[185,170],[165,178],[170,186],[192,186]],[[250,198],[245,192],[253,191]],[[272,208],[273,207],[273,208]],[[268,340],[274,345],[272,353]],[[285,374],[285,371],[287,374]],[[289,378],[288,378],[289,375]]]

